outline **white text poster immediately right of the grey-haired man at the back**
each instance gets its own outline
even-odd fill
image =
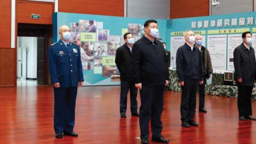
[[[208,35],[207,49],[211,55],[213,70],[226,70],[227,35]]]

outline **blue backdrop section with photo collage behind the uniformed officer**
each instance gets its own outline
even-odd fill
[[[84,85],[119,85],[115,50],[124,43],[122,35],[127,31],[138,40],[143,35],[146,20],[58,12],[53,14],[53,42],[60,39],[59,27],[69,26],[70,41],[81,46]],[[157,19],[157,22],[159,37],[165,42],[166,20]]]

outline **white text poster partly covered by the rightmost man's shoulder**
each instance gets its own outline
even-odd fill
[[[234,57],[233,53],[235,48],[242,43],[241,34],[228,35],[228,70],[234,69]]]

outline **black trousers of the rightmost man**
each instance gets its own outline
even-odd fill
[[[238,85],[237,106],[239,117],[252,115],[252,89],[253,86]]]

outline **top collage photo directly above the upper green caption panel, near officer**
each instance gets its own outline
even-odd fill
[[[96,33],[96,23],[94,20],[79,20],[78,31]]]

